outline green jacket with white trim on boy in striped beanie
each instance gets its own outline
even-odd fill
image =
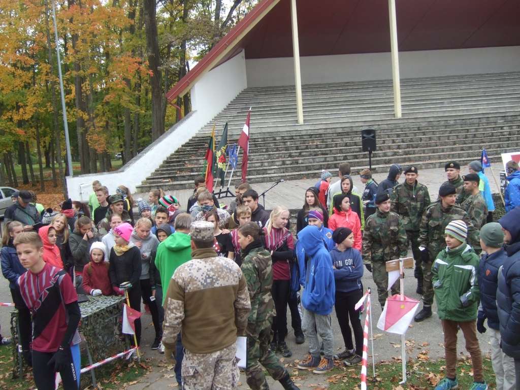
[[[478,256],[465,242],[443,249],[432,266],[432,285],[441,320],[473,321],[479,301]]]

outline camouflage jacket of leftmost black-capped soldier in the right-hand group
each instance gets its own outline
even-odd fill
[[[387,262],[405,257],[408,238],[405,225],[396,213],[376,210],[367,218],[363,233],[363,263]]]

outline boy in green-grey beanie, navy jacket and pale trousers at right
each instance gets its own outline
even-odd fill
[[[508,254],[502,248],[504,233],[499,223],[491,222],[480,229],[482,257],[478,265],[478,287],[480,306],[478,309],[477,330],[486,332],[484,321],[487,319],[491,341],[491,365],[495,371],[497,390],[515,388],[515,362],[500,348],[500,321],[497,308],[497,288],[499,269]]]

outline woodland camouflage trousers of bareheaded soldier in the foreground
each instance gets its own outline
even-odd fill
[[[252,390],[268,390],[269,385],[265,379],[265,367],[272,379],[278,381],[285,374],[285,368],[276,357],[274,351],[269,347],[271,338],[271,327],[262,329],[256,336],[248,334],[247,363],[245,366],[245,376]]]

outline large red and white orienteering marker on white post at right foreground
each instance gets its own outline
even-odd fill
[[[405,334],[418,307],[419,301],[407,296],[404,301],[401,301],[399,294],[386,298],[378,328],[389,333]]]

